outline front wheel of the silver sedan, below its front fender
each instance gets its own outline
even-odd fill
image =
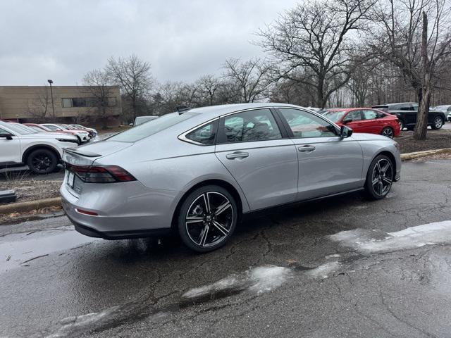
[[[370,199],[383,199],[390,192],[395,171],[392,160],[385,155],[374,158],[366,173],[365,190]]]

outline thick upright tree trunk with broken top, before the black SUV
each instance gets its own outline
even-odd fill
[[[431,61],[428,58],[428,17],[423,12],[423,31],[421,32],[421,60],[423,71],[421,74],[421,89],[418,92],[419,106],[416,113],[414,139],[426,139],[428,132],[429,101],[431,101]]]

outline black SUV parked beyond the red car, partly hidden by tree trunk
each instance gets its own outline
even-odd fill
[[[414,130],[416,125],[416,113],[418,111],[418,104],[415,102],[404,102],[400,104],[382,104],[373,106],[380,111],[385,111],[392,115],[396,115],[401,130],[407,128],[407,130]],[[445,123],[446,116],[441,111],[429,111],[428,113],[428,125],[432,129],[440,129]]]

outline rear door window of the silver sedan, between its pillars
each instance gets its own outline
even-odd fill
[[[281,139],[282,134],[269,109],[256,109],[224,118],[227,142],[266,141]]]

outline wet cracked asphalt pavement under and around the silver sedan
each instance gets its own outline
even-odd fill
[[[94,240],[65,217],[1,225],[0,337],[451,337],[450,246],[363,255],[328,237],[451,220],[450,168],[404,163],[383,201],[283,208],[207,254],[177,239]],[[183,296],[273,265],[290,273],[267,289]]]

